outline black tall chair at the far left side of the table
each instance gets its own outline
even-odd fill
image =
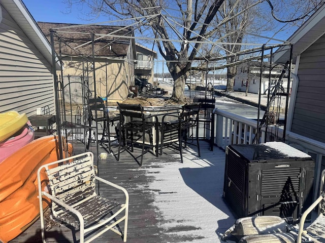
[[[108,151],[111,152],[111,134],[110,134],[110,124],[114,124],[119,120],[119,116],[113,115],[110,116],[107,107],[104,105],[102,98],[90,98],[89,99],[89,134],[86,148],[89,149],[89,146],[92,141],[95,141],[95,138],[92,138],[92,130],[95,131],[95,136],[98,136],[98,131],[102,131],[102,138],[99,141],[100,143],[106,143],[108,145]],[[97,126],[93,126],[93,121],[97,123]],[[100,129],[98,128],[100,126]],[[96,131],[97,128],[97,131]]]

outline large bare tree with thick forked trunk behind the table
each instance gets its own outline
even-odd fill
[[[159,38],[156,41],[159,53],[167,61],[168,70],[174,79],[172,98],[175,101],[184,101],[185,81],[190,72],[191,61],[211,36],[210,23],[223,1],[187,0],[183,3],[179,0],[66,0],[66,3],[72,7],[82,2],[91,8],[92,14],[102,12],[118,18],[132,17],[135,21],[142,20],[139,30],[145,33],[151,29],[151,36]],[[167,13],[167,5],[177,9]],[[180,42],[169,41],[175,37]]]

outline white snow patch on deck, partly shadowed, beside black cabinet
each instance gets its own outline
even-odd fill
[[[235,222],[222,198],[224,151],[215,148],[211,152],[208,143],[200,144],[201,157],[196,147],[187,148],[183,150],[183,164],[179,160],[156,161],[145,168],[155,178],[147,189],[154,192],[153,206],[163,218],[162,233],[170,234],[171,242],[175,238],[185,242],[189,235],[196,242],[220,242],[217,233]]]

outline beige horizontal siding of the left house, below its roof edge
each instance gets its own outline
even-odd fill
[[[0,23],[0,112],[27,116],[46,107],[54,114],[51,65],[32,44],[6,9]]]

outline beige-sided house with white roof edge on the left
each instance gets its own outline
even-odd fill
[[[20,0],[0,0],[0,112],[55,113],[51,46]]]

